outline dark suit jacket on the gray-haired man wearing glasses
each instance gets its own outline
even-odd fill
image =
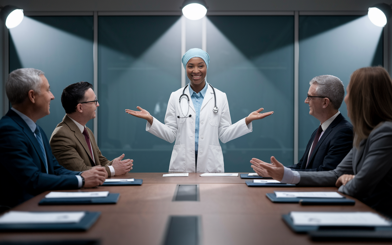
[[[316,148],[314,148],[310,156],[309,164],[306,166],[310,146],[313,143],[316,132],[317,129],[310,137],[305,154],[303,154],[299,163],[287,166],[288,168],[296,171],[334,170],[352,149],[352,125],[342,114],[339,114],[317,142]]]

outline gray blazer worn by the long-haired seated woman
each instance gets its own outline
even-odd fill
[[[354,147],[336,169],[325,172],[299,172],[298,185],[335,186],[343,174],[355,178],[339,191],[358,198],[370,207],[392,217],[392,122],[380,123],[359,148]]]

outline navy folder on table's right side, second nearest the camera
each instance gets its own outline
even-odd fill
[[[354,205],[355,200],[347,198],[277,198],[275,193],[267,193],[267,198],[274,203],[300,203],[301,205]]]

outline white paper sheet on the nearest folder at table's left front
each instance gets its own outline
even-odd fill
[[[85,212],[10,211],[0,217],[0,224],[79,223]]]

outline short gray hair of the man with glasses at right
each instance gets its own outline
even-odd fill
[[[339,78],[332,75],[321,75],[310,80],[309,84],[317,85],[317,96],[327,97],[334,109],[340,108],[344,99],[344,85]]]

